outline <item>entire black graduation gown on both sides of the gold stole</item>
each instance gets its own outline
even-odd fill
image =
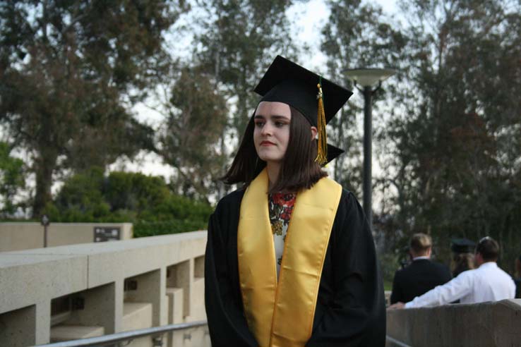
[[[257,347],[239,288],[237,226],[244,190],[217,204],[208,224],[205,305],[213,347]],[[291,322],[288,322],[291,324]],[[342,191],[325,255],[313,332],[306,347],[385,346],[385,298],[371,230]]]

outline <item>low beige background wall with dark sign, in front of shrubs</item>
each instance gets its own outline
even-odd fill
[[[95,242],[96,226],[119,227],[120,240],[132,238],[131,223],[52,223],[47,226],[47,247]],[[43,246],[44,227],[40,223],[0,223],[0,252]]]

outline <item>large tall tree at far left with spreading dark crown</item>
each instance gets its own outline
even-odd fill
[[[32,213],[62,167],[104,166],[152,147],[129,107],[155,84],[163,32],[184,1],[0,3],[0,122],[32,155]]]

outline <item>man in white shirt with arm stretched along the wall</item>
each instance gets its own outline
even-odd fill
[[[422,296],[417,296],[408,303],[395,303],[390,309],[421,308],[445,305],[455,300],[460,303],[483,303],[513,299],[515,284],[509,274],[496,264],[499,245],[490,237],[481,238],[476,246],[474,262],[477,269],[459,274],[455,279],[442,286],[431,289]]]

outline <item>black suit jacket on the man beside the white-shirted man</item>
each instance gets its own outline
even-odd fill
[[[408,303],[450,279],[452,275],[445,265],[427,259],[414,260],[405,269],[395,273],[390,301]]]

